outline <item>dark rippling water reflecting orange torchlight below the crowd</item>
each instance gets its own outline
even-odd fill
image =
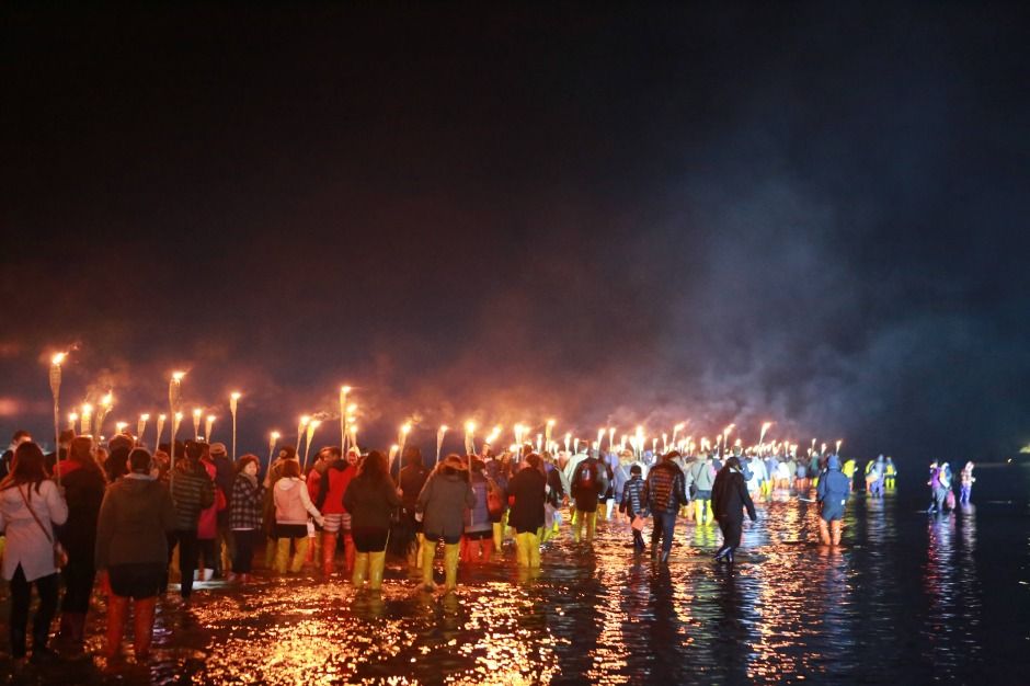
[[[394,561],[381,597],[345,578],[201,584],[159,606],[156,653],[27,666],[14,683],[1030,683],[1030,516],[1021,468],[983,469],[975,504],[937,518],[920,490],[857,494],[844,546],[815,506],[759,505],[731,571],[718,528],[680,521],[667,565],[633,558],[622,523],[593,549],[568,530],[527,579],[503,561],[425,594]],[[9,603],[3,592],[3,636]],[[102,645],[92,613],[89,650]],[[129,649],[130,643],[126,648]],[[7,644],[4,643],[4,651]],[[0,659],[9,674],[10,659]]]

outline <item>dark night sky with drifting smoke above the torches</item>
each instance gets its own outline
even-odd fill
[[[0,433],[1030,442],[1027,4],[632,4],[7,5]]]

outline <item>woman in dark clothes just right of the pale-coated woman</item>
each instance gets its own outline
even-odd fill
[[[58,539],[68,553],[68,564],[61,570],[65,597],[60,606],[61,642],[81,648],[85,629],[85,614],[90,609],[90,595],[96,579],[93,552],[96,547],[96,517],[104,500],[107,478],[96,462],[93,439],[78,436],[71,439],[68,458],[57,465],[56,471],[65,487],[68,503],[68,523],[60,527]]]

